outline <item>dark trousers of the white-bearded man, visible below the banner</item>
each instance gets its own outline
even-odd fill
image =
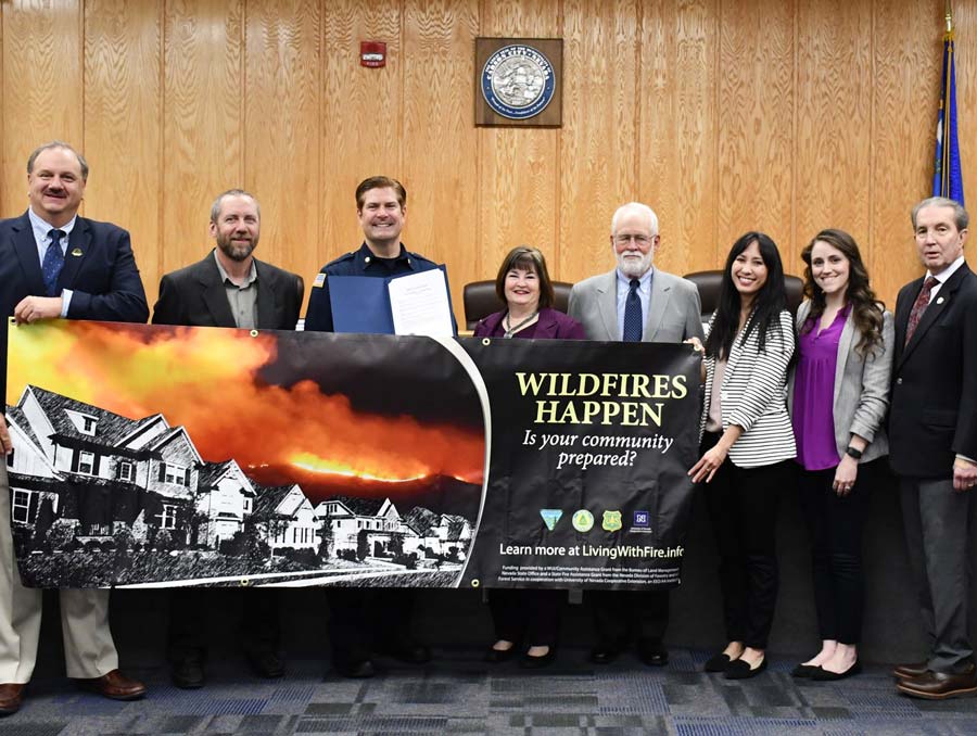
[[[669,625],[668,591],[594,591],[587,593],[594,631],[601,646],[664,638]]]

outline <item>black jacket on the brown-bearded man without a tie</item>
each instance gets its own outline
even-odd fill
[[[294,330],[302,307],[302,279],[257,258],[254,263],[258,275],[258,329]],[[160,280],[153,325],[236,327],[214,251],[200,263]]]

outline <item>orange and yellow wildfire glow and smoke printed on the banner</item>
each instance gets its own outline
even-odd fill
[[[11,327],[7,401],[16,404],[33,384],[134,419],[161,413],[187,428],[207,460],[296,470],[281,482],[313,473],[337,482],[446,475],[481,484],[480,432],[358,413],[345,395],[325,395],[313,381],[266,385],[257,372],[276,350],[271,334],[234,330]]]

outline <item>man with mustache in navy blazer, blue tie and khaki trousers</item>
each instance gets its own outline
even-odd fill
[[[78,217],[88,164],[67,143],[39,147],[27,160],[29,207],[0,220],[0,395],[7,396],[7,317],[144,322],[145,292],[129,233]],[[15,329],[15,328],[11,328]],[[7,422],[0,448],[11,452]],[[0,464],[0,714],[21,707],[37,658],[41,591],[21,584],[13,550],[7,462]],[[122,675],[109,631],[107,591],[62,591],[61,625],[68,677],[116,700],[145,686]]]

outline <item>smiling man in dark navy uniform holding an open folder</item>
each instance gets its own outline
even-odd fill
[[[305,315],[305,331],[332,332],[329,277],[388,278],[437,268],[408,251],[401,242],[407,221],[407,190],[396,179],[375,176],[356,188],[356,217],[363,244],[326,264],[313,283]],[[332,663],[344,677],[372,677],[375,651],[401,661],[422,664],[431,659],[428,647],[411,633],[415,595],[405,588],[328,587],[329,639]]]

